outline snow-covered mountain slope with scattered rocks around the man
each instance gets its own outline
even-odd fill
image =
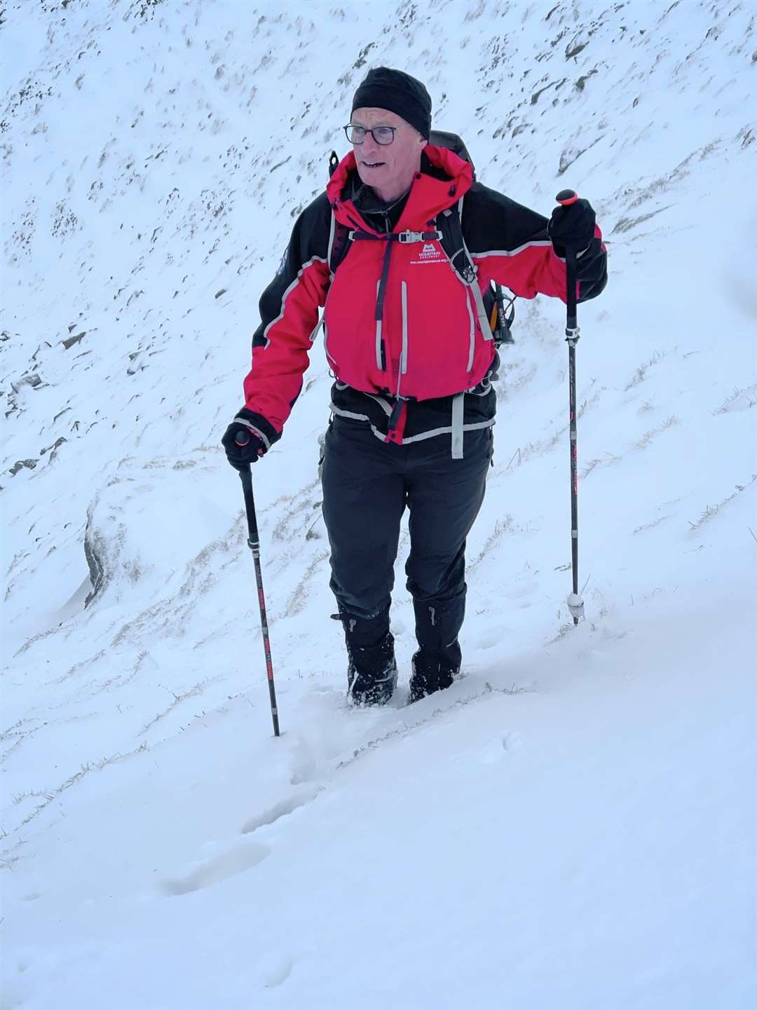
[[[757,997],[748,3],[9,3],[3,1010],[735,1008]],[[518,303],[465,677],[348,709],[316,347],[239,480],[257,299],[371,66],[487,185],[597,208],[569,622],[564,308]],[[93,582],[94,580],[94,582]]]

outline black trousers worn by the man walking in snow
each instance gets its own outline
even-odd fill
[[[465,539],[478,515],[493,451],[491,428],[466,431],[463,459],[450,437],[395,445],[367,424],[335,417],[323,448],[323,518],[330,587],[351,660],[386,665],[399,526],[409,510],[405,572],[415,610],[413,668],[460,669],[465,615]],[[353,647],[351,647],[351,645]],[[358,659],[358,664],[360,659]],[[370,670],[366,670],[370,673]]]

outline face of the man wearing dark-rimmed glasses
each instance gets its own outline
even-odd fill
[[[372,133],[366,133],[363,143],[353,144],[358,163],[358,174],[366,185],[373,187],[380,195],[395,191],[400,196],[407,190],[412,177],[420,167],[420,152],[427,140],[418,131],[400,118],[395,112],[386,109],[355,109],[350,122],[354,126],[394,126],[394,140],[388,144],[379,144]]]

